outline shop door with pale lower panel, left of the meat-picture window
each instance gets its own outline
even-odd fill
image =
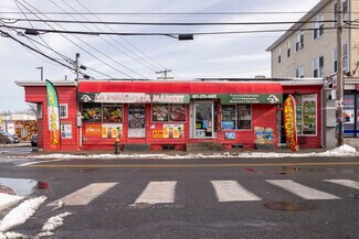
[[[145,105],[128,105],[128,138],[146,138],[146,113]]]

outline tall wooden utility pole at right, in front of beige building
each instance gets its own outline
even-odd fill
[[[342,46],[341,46],[341,34],[342,34],[342,12],[341,12],[341,0],[337,0],[337,82],[338,82],[338,104],[337,104],[337,121],[338,121],[338,137],[337,146],[344,144],[344,118],[342,118],[342,104],[344,104],[344,76],[342,76]]]

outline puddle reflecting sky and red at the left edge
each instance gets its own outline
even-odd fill
[[[36,188],[45,189],[49,185],[44,182],[25,178],[8,178],[0,177],[0,193],[6,193],[17,196],[28,196]]]

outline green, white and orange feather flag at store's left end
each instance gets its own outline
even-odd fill
[[[49,132],[50,132],[50,146],[56,148],[61,143],[59,96],[54,85],[47,79],[46,79],[46,97],[47,97],[47,123],[49,123]]]

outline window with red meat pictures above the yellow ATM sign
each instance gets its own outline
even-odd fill
[[[152,105],[152,121],[154,122],[186,121],[186,105],[154,104]]]

